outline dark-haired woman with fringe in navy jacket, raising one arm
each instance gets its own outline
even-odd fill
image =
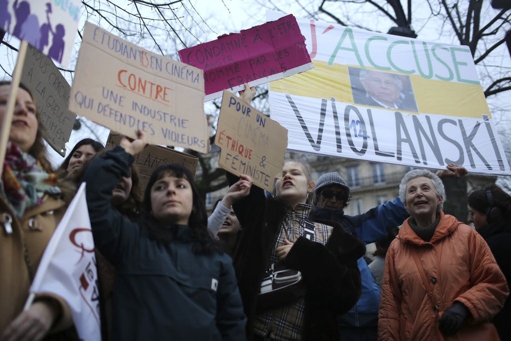
[[[145,146],[133,142],[93,160],[85,171],[96,247],[117,270],[113,340],[244,340],[246,317],[231,259],[207,232],[193,176],[159,166],[132,222],[110,203],[112,190]]]

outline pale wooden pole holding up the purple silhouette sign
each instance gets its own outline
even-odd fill
[[[0,178],[4,171],[4,160],[7,149],[7,142],[9,141],[9,135],[11,133],[12,117],[14,115],[14,105],[16,103],[16,96],[18,94],[19,81],[21,80],[21,71],[23,70],[23,64],[25,63],[25,56],[27,55],[28,43],[26,40],[21,40],[18,50],[18,58],[16,60],[16,66],[14,66],[14,72],[12,73],[11,80],[11,92],[7,100],[7,107],[5,109],[4,119],[2,120],[2,130],[0,130]]]

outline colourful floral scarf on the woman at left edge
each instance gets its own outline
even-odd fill
[[[43,171],[40,163],[29,153],[9,142],[7,145],[0,195],[18,217],[43,203],[48,195],[60,197],[56,174]]]

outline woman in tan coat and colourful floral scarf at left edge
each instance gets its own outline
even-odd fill
[[[0,121],[10,82],[0,82]],[[43,127],[29,89],[20,84],[0,183],[0,339],[42,339],[71,327],[71,312],[57,295],[38,294],[27,310],[29,287],[74,186],[52,172]]]

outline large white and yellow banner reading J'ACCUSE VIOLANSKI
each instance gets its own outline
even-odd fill
[[[298,25],[315,67],[270,84],[271,117],[288,128],[288,149],[510,173],[468,47]]]

